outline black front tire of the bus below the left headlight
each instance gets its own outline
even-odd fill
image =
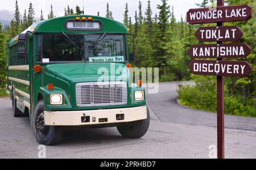
[[[63,128],[60,126],[44,125],[44,101],[40,100],[33,114],[33,129],[36,140],[46,146],[56,145],[61,141]]]

